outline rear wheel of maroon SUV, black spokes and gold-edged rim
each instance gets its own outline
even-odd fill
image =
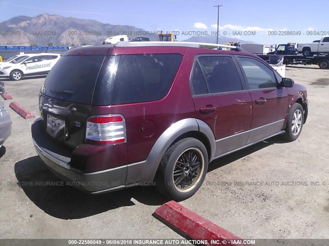
[[[180,201],[190,198],[201,187],[208,171],[204,144],[192,137],[171,146],[163,155],[155,177],[157,190]]]

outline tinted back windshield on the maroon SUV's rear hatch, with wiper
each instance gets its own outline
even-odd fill
[[[62,100],[92,104],[97,76],[104,57],[104,55],[61,57],[50,70],[41,92]],[[66,92],[54,93],[55,91]]]

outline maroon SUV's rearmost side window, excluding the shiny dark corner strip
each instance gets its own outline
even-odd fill
[[[178,71],[180,54],[121,55],[112,104],[159,100],[167,95]]]

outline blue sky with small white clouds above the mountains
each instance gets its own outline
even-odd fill
[[[329,35],[327,0],[0,0],[0,22],[48,13],[174,32],[178,40],[184,40],[193,34],[215,35],[215,5],[223,5],[219,25],[223,36],[272,45],[309,43]]]

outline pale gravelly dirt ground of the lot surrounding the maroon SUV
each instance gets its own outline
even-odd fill
[[[287,67],[307,87],[309,115],[295,142],[280,137],[210,163],[200,190],[181,204],[241,238],[329,238],[329,71]],[[152,214],[168,199],[152,187],[87,195],[65,186],[36,155],[34,119],[44,77],[5,81],[12,135],[0,150],[0,238],[181,238]],[[1,98],[2,99],[2,98]],[[19,182],[21,185],[17,185]]]

